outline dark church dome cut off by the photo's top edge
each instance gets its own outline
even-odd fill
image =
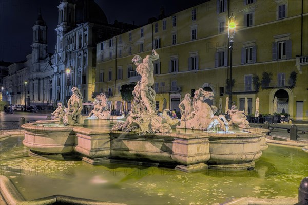
[[[100,6],[94,0],[75,0],[76,23],[91,22],[108,24],[107,17]]]

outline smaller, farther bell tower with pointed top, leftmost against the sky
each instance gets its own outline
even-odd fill
[[[32,64],[46,59],[47,54],[47,25],[42,18],[41,10],[38,13],[33,29]]]

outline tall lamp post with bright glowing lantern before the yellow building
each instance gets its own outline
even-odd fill
[[[229,17],[228,21],[228,38],[230,40],[230,76],[228,79],[228,89],[229,89],[229,107],[232,106],[232,87],[233,87],[233,79],[232,79],[232,50],[233,50],[233,38],[235,35],[235,17],[233,16],[233,13]]]

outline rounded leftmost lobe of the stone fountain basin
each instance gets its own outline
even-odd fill
[[[74,145],[73,126],[40,121],[22,125],[25,129],[23,144],[32,152],[71,153]]]

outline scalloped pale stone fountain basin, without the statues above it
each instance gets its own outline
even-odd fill
[[[266,129],[202,132],[176,129],[172,133],[139,136],[132,132],[110,131],[35,122],[22,126],[24,145],[30,155],[65,159],[79,157],[92,165],[128,163],[173,166],[193,172],[213,169],[253,169],[267,148]],[[52,157],[61,155],[61,157]]]

